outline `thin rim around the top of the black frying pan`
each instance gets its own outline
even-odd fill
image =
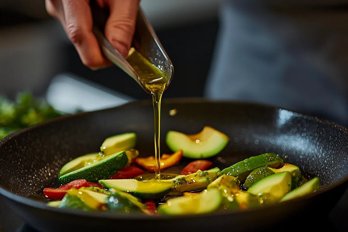
[[[191,103],[215,103],[215,104],[231,104],[231,105],[251,105],[251,106],[258,106],[258,107],[266,107],[270,108],[272,110],[285,110],[293,113],[296,115],[296,117],[300,118],[310,118],[311,120],[317,121],[318,123],[323,123],[327,125],[331,125],[334,127],[339,128],[340,130],[344,131],[345,133],[348,134],[348,129],[346,127],[343,127],[335,122],[326,120],[326,119],[321,119],[316,116],[292,111],[292,110],[287,110],[282,107],[278,107],[275,105],[270,105],[270,104],[263,104],[263,103],[255,103],[255,102],[247,102],[247,101],[231,101],[231,100],[211,100],[211,99],[206,99],[206,98],[167,98],[163,99],[163,104],[191,104]],[[145,106],[145,105],[152,105],[152,102],[150,100],[141,100],[141,101],[134,101],[130,102],[121,106],[117,107],[112,107],[108,109],[102,109],[102,110],[96,110],[96,111],[89,111],[89,112],[81,112],[77,114],[68,114],[68,115],[63,115],[58,118],[50,119],[45,122],[39,123],[37,125],[27,127],[25,129],[16,131],[5,138],[0,140],[0,147],[5,144],[7,141],[9,141],[12,137],[18,136],[20,134],[23,134],[27,131],[30,131],[35,128],[39,127],[44,127],[50,123],[54,123],[57,121],[61,120],[67,120],[69,118],[76,118],[85,114],[92,114],[96,112],[102,112],[102,111],[112,111],[114,109],[122,109],[125,107],[134,107],[134,106]],[[108,214],[106,212],[85,212],[81,210],[74,210],[74,209],[60,209],[60,208],[54,208],[47,206],[46,203],[36,201],[21,195],[17,195],[9,190],[4,189],[0,185],[0,194],[3,195],[5,198],[15,201],[17,203],[21,203],[23,205],[29,206],[29,207],[34,207],[37,209],[41,210],[46,210],[46,211],[53,211],[54,213],[59,213],[59,214],[65,214],[65,215],[71,215],[71,216],[77,216],[77,217],[93,217],[93,218],[100,218],[100,219],[112,219],[112,220],[163,220],[163,219],[173,219],[173,220],[179,220],[183,218],[201,218],[201,217],[217,217],[217,216],[224,216],[224,215],[236,215],[236,214],[249,214],[253,212],[258,212],[258,211],[263,211],[263,210],[270,210],[272,208],[278,208],[278,207],[283,207],[284,205],[290,204],[290,203],[296,203],[299,201],[304,201],[309,198],[313,198],[319,194],[322,194],[324,192],[327,192],[329,190],[335,189],[338,186],[344,184],[345,182],[348,181],[348,175],[342,177],[339,181],[336,181],[335,183],[324,187],[323,189],[320,189],[314,193],[308,194],[304,197],[296,198],[293,200],[285,201],[285,202],[280,202],[274,205],[266,205],[263,207],[259,208],[251,208],[251,209],[246,209],[246,210],[228,210],[228,211],[222,211],[222,212],[212,212],[212,213],[207,213],[207,214],[195,214],[195,215],[137,215],[137,214],[124,214],[124,215],[118,215],[118,214]]]

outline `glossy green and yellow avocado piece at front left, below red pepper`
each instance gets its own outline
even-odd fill
[[[106,204],[108,195],[88,190],[70,189],[64,196],[58,208],[81,209],[84,211],[99,211]]]

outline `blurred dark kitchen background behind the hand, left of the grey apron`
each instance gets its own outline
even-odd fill
[[[142,0],[175,68],[165,98],[201,97],[219,28],[218,0]],[[197,7],[199,5],[199,7]],[[118,67],[85,67],[44,0],[0,0],[0,94],[31,90],[56,109],[97,110],[150,96]]]

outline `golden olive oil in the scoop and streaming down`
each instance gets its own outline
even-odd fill
[[[134,48],[129,50],[127,62],[139,75],[144,87],[152,94],[153,114],[155,118],[155,179],[159,180],[161,178],[159,144],[161,99],[169,77],[152,65]]]

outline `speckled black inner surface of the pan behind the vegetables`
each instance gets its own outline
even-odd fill
[[[211,126],[230,138],[211,158],[217,167],[273,152],[288,157],[306,177],[320,177],[323,187],[348,174],[348,133],[334,123],[247,103],[166,100],[162,109],[161,153],[171,153],[165,144],[168,130],[195,134]],[[141,157],[154,155],[151,102],[60,118],[16,133],[0,142],[0,186],[23,196],[41,194],[44,187],[56,186],[60,168],[70,159],[98,152],[106,137],[126,132],[137,134]],[[190,161],[184,158],[165,172],[179,173]]]

